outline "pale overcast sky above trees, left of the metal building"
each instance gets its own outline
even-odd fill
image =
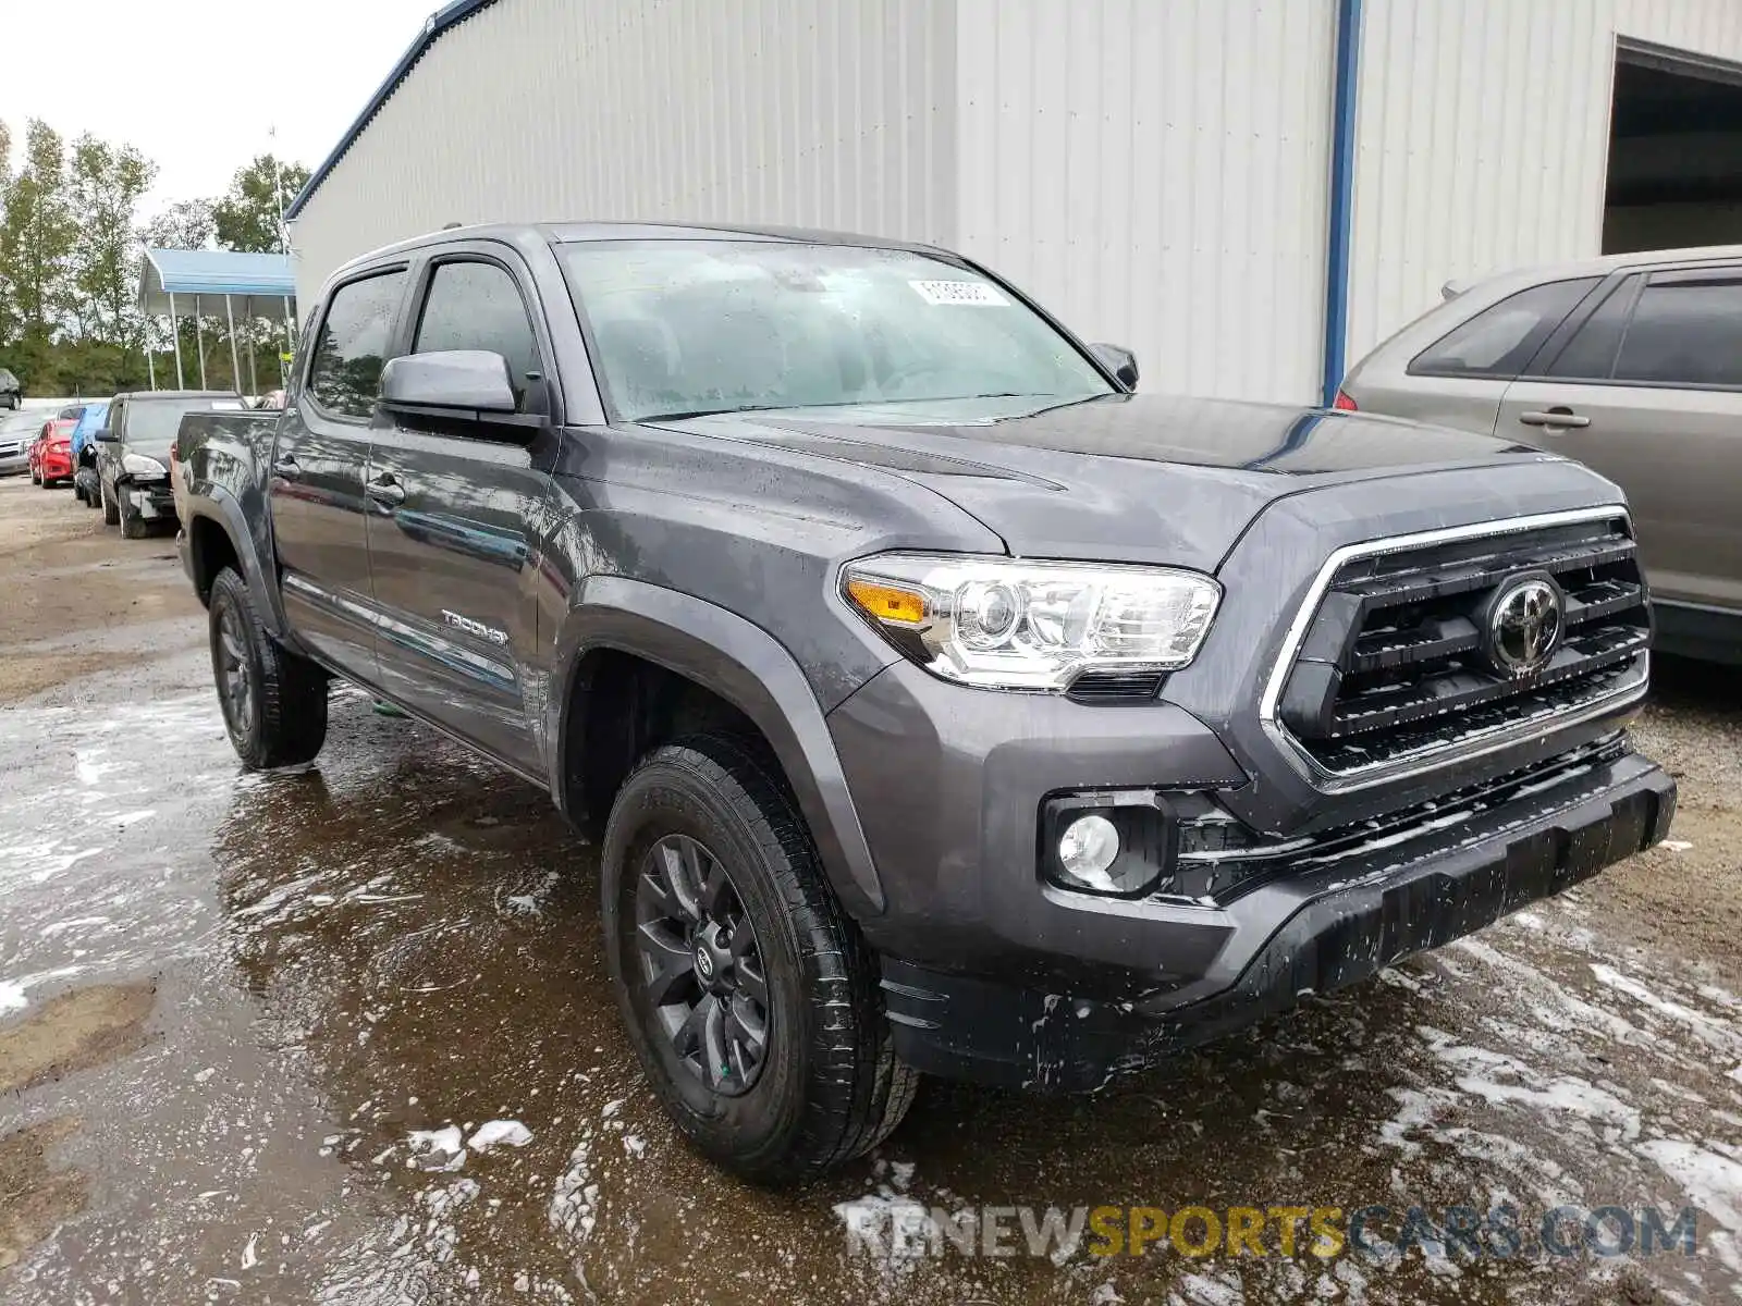
[[[0,120],[157,160],[141,204],[219,195],[256,153],[315,167],[441,0],[0,0]]]

